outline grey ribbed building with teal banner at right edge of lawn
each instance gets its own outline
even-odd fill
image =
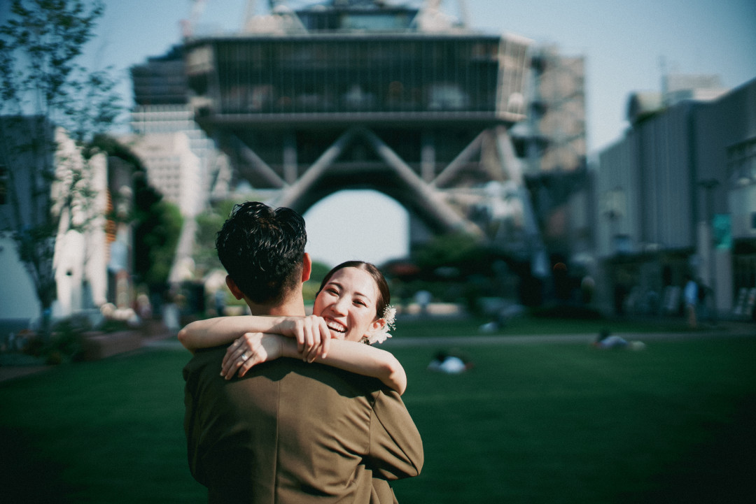
[[[724,94],[683,81],[633,94],[631,128],[600,152],[596,251],[630,309],[675,312],[691,274],[733,313],[756,287],[756,80]]]

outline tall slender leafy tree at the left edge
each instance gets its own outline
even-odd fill
[[[13,0],[0,26],[0,168],[12,235],[36,288],[43,332],[56,297],[58,233],[87,226],[94,134],[119,112],[109,71],[79,65],[102,2]],[[6,14],[5,12],[2,14]],[[75,143],[65,146],[64,143]]]

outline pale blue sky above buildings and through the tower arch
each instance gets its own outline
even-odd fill
[[[192,2],[105,3],[86,63],[113,65],[130,105],[129,66],[180,41],[180,21],[190,17]],[[238,29],[247,3],[205,0],[199,26]],[[260,11],[268,1],[256,3]],[[443,5],[457,12],[457,2]],[[586,58],[589,153],[621,137],[631,92],[658,91],[662,59],[669,72],[717,74],[728,88],[756,78],[754,0],[466,0],[464,5],[475,29],[511,32]],[[355,258],[381,263],[407,250],[406,212],[375,192],[337,193],[308,211],[305,220],[311,254],[327,263]]]

